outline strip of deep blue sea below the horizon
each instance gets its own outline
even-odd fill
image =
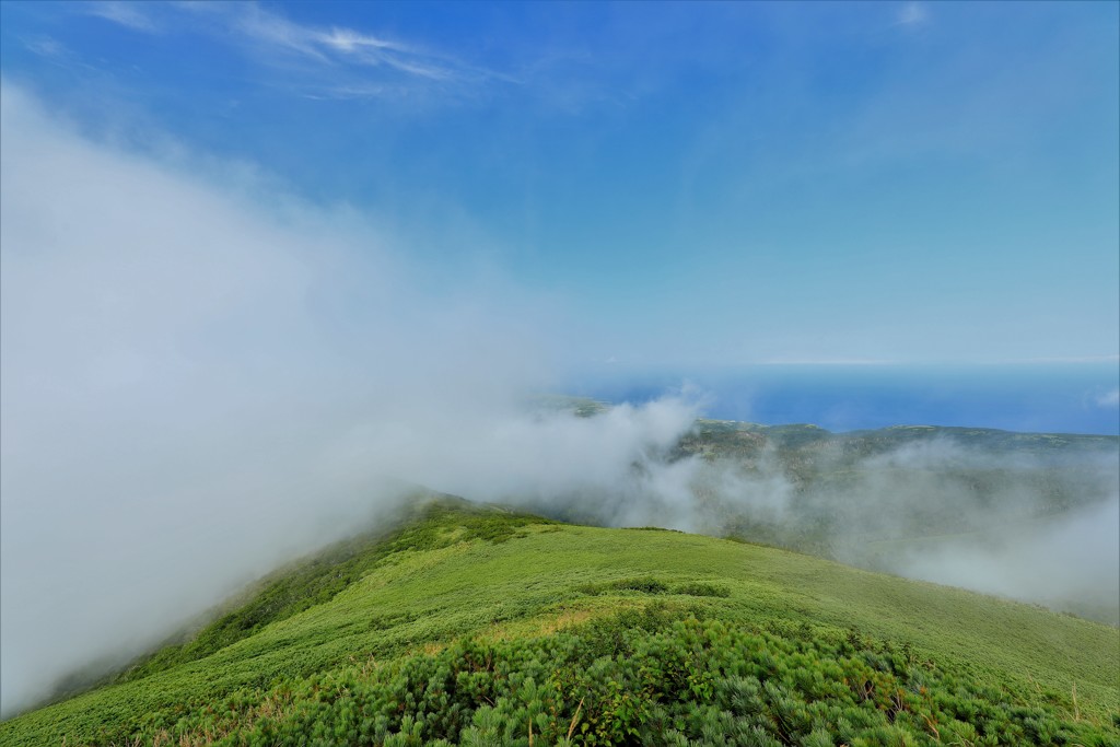
[[[899,424],[1120,435],[1120,364],[972,366],[754,365],[697,370],[606,367],[573,394],[645,402],[684,387],[706,417],[832,431]]]

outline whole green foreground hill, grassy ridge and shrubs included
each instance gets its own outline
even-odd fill
[[[441,502],[0,744],[1114,745],[1118,678],[1120,632],[1079,618]]]

